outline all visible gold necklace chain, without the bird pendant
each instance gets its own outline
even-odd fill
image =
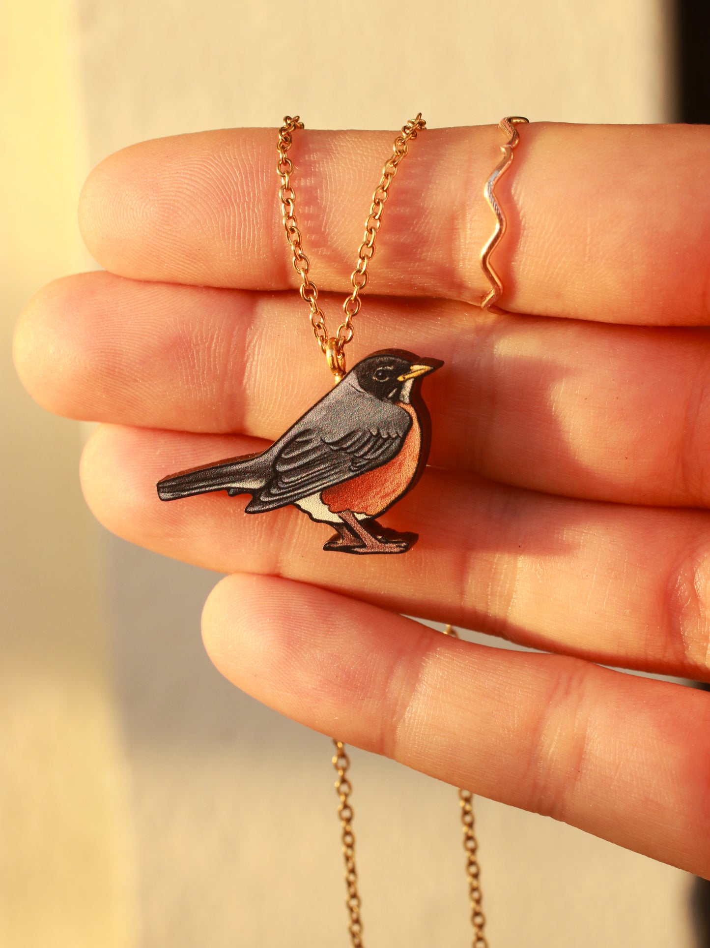
[[[375,254],[375,239],[382,225],[382,210],[384,210],[384,203],[387,200],[390,185],[397,174],[399,162],[407,155],[409,141],[417,137],[417,132],[422,131],[426,127],[426,123],[421,118],[421,113],[419,113],[417,118],[408,121],[402,127],[398,137],[395,138],[392,155],[387,158],[384,164],[382,178],[372,197],[372,205],[365,224],[363,243],[358,250],[358,263],[350,275],[352,292],[343,303],[345,319],[333,337],[328,333],[325,315],[318,305],[318,288],[309,276],[311,263],[304,252],[301,232],[298,229],[295,217],[295,192],[291,183],[293,162],[288,153],[293,144],[293,132],[303,127],[303,122],[298,116],[293,118],[286,116],[283,125],[278,130],[277,172],[281,179],[278,195],[283,210],[283,226],[286,231],[286,238],[293,252],[293,269],[301,279],[299,292],[301,298],[309,304],[313,335],[321,351],[328,359],[328,368],[337,384],[346,374],[345,347],[354,334],[352,319],[358,314],[362,305],[360,293],[367,283],[367,266]],[[445,634],[457,637],[456,631],[451,625],[446,627]],[[335,781],[335,791],[339,798],[338,814],[341,821],[341,841],[345,860],[347,931],[350,935],[352,948],[364,948],[363,921],[360,917],[361,900],[358,890],[358,872],[355,864],[355,834],[352,828],[354,814],[350,803],[352,785],[348,776],[350,758],[347,756],[346,746],[342,740],[333,738],[333,743],[335,744],[335,754],[332,763],[338,775]],[[473,794],[470,790],[459,789],[458,798],[463,824],[464,850],[466,852],[470,923],[473,928],[471,948],[488,948],[488,941],[484,934],[486,918],[481,905],[480,868],[477,859],[478,842],[473,819]]]

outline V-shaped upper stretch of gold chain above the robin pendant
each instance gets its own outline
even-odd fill
[[[295,192],[291,184],[291,175],[293,174],[293,161],[289,157],[289,149],[293,145],[293,132],[296,129],[302,129],[303,122],[299,116],[284,116],[283,125],[278,130],[278,163],[276,170],[281,180],[281,187],[278,190],[278,196],[281,201],[282,221],[286,231],[286,239],[289,242],[293,254],[293,269],[301,280],[299,293],[301,298],[309,304],[311,309],[311,327],[313,336],[316,338],[321,351],[328,356],[328,366],[333,374],[342,377],[346,372],[345,347],[352,340],[354,330],[352,326],[353,317],[360,312],[362,300],[360,294],[367,285],[368,273],[367,267],[375,255],[375,241],[378,232],[382,226],[382,211],[389,194],[389,189],[397,174],[399,162],[409,151],[409,142],[417,137],[417,133],[426,128],[426,122],[421,118],[419,112],[417,118],[411,119],[406,125],[403,125],[399,135],[395,138],[392,146],[392,155],[384,163],[382,169],[382,178],[372,195],[372,205],[364,226],[363,243],[358,250],[358,262],[355,269],[350,274],[350,283],[352,292],[346,297],[343,303],[345,319],[338,326],[338,331],[334,337],[330,337],[326,317],[318,304],[318,288],[312,282],[309,273],[311,271],[311,262],[306,256],[301,239],[301,231],[298,229],[298,222],[295,216]],[[328,342],[329,355],[328,355]]]

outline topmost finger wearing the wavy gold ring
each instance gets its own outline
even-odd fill
[[[708,320],[710,131],[541,123],[521,137],[498,191],[508,216],[494,259],[502,305],[625,323]],[[87,246],[107,269],[141,280],[294,286],[275,140],[275,129],[231,129],[112,155],[82,194]],[[417,138],[384,211],[368,293],[480,301],[488,283],[478,258],[494,223],[483,187],[503,140],[492,126]],[[320,289],[346,291],[391,144],[387,132],[294,137],[296,213]]]

